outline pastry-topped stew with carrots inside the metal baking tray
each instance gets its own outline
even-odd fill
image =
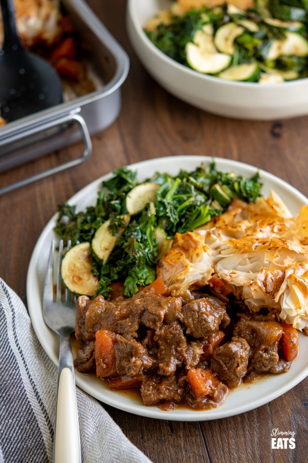
[[[16,0],[18,34],[25,47],[47,59],[61,77],[64,101],[96,90],[96,78],[79,38],[57,0]],[[0,21],[0,46],[3,24]],[[2,116],[5,115],[2,114]]]

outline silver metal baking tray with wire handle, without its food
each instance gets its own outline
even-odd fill
[[[84,162],[92,150],[90,135],[112,124],[121,109],[120,87],[129,69],[126,52],[83,0],[62,0],[62,5],[96,76],[97,90],[1,127],[0,172],[79,140],[84,141],[84,151],[77,159],[11,185],[0,186],[0,194]]]

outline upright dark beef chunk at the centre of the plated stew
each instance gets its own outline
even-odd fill
[[[172,375],[185,358],[186,338],[178,322],[162,325],[155,332],[158,344],[159,375]]]

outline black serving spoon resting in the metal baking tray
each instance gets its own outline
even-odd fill
[[[62,102],[55,69],[25,50],[17,35],[13,0],[0,0],[4,44],[0,50],[1,115],[8,122]]]

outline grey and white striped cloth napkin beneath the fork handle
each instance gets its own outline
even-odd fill
[[[57,376],[24,304],[0,279],[0,463],[52,462]],[[77,403],[83,463],[151,463],[79,388]]]

